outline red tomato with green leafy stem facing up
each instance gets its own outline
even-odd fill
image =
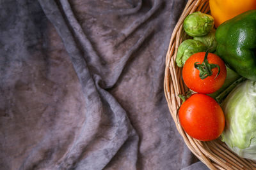
[[[227,69],[225,63],[220,57],[218,57],[218,55],[208,53],[206,57],[206,64],[204,64],[205,52],[199,52],[191,55],[184,64],[182,77],[184,83],[189,89],[202,94],[211,94],[216,92],[223,85],[227,76]],[[195,65],[200,67],[198,69],[201,69],[202,71],[196,69]],[[218,66],[220,67],[219,74]],[[209,71],[211,73],[209,73]],[[209,76],[205,78],[206,74]]]

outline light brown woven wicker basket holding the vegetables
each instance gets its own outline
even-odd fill
[[[173,30],[168,52],[166,54],[164,75],[164,94],[168,102],[170,113],[176,124],[177,130],[183,137],[189,150],[191,150],[191,152],[193,152],[196,157],[204,162],[210,169],[256,169],[255,161],[239,157],[236,153],[232,152],[225,143],[221,142],[220,139],[209,142],[198,141],[188,136],[179,124],[177,110],[181,104],[181,100],[179,99],[178,94],[184,94],[184,92],[188,90],[188,87],[186,87],[182,81],[182,69],[175,65],[175,57],[180,43],[182,43],[184,39],[188,39],[188,36],[182,28],[184,18],[194,11],[209,13],[209,1],[189,0]]]

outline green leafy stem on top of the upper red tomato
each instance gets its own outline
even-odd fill
[[[208,60],[207,60],[208,53],[209,53],[208,51],[205,53],[204,61],[202,62],[202,64],[198,64],[200,62],[195,62],[195,64],[194,64],[195,68],[199,70],[199,76],[202,80],[207,78],[207,76],[211,76],[212,69],[215,67],[218,68],[218,73],[216,74],[214,79],[217,78],[217,76],[220,74],[220,66],[218,64],[210,64],[208,62]]]

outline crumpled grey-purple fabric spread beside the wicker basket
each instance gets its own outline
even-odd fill
[[[181,169],[163,93],[186,1],[0,1],[1,169]]]

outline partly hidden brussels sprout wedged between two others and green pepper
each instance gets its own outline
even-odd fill
[[[216,30],[212,29],[205,36],[195,36],[194,39],[204,43],[204,45],[207,46],[207,49],[209,49],[209,52],[214,52],[217,48],[217,41],[216,41],[216,38],[215,38],[215,32],[216,32]]]

